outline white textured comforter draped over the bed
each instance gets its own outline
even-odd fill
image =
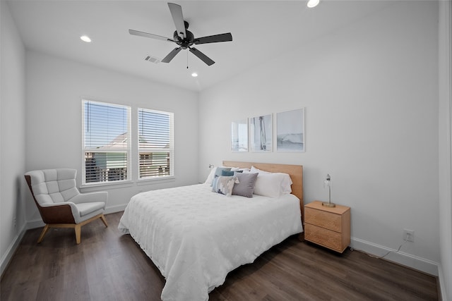
[[[233,269],[303,231],[299,199],[225,197],[207,184],[142,192],[119,222],[166,278],[162,300],[208,300]]]

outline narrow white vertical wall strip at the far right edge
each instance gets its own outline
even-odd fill
[[[439,3],[439,235],[443,300],[452,300],[452,5]]]

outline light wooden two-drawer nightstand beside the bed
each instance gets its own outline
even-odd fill
[[[304,239],[336,252],[350,245],[350,207],[323,207],[314,201],[304,206]]]

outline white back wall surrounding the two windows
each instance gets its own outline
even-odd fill
[[[109,192],[107,211],[124,209],[132,195],[197,183],[198,94],[161,85],[131,75],[86,66],[35,51],[26,53],[26,139],[27,170],[76,168],[81,184],[81,99],[126,104],[174,113],[175,180],[150,185],[121,185],[96,188]],[[136,128],[132,135],[136,135]],[[135,133],[135,134],[134,134]],[[132,163],[137,158],[133,156]],[[132,170],[136,178],[136,169]],[[195,172],[196,173],[196,172]],[[93,188],[88,189],[93,191]],[[27,193],[27,220],[40,215]]]

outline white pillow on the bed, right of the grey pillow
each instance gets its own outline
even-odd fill
[[[259,173],[254,187],[254,194],[256,195],[279,197],[280,195],[286,195],[292,192],[290,185],[293,182],[287,173],[270,173],[268,171],[261,171],[254,166],[251,166],[251,173]]]

